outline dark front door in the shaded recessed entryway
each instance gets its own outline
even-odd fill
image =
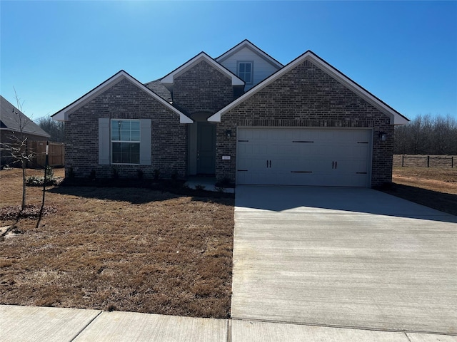
[[[216,125],[197,123],[197,174],[216,173]]]

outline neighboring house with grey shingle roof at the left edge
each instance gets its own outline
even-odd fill
[[[30,120],[6,98],[0,95],[0,143],[1,165],[10,164],[14,160],[9,154],[8,145],[18,142],[46,141],[51,135],[46,133]]]

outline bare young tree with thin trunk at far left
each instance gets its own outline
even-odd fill
[[[21,202],[21,210],[24,210],[26,207],[26,166],[27,162],[34,157],[34,152],[29,151],[27,148],[27,136],[25,133],[25,128],[29,124],[29,118],[26,118],[24,113],[22,112],[22,105],[24,102],[21,103],[19,100],[16,89],[14,89],[14,95],[16,96],[16,103],[17,108],[19,109],[19,113],[14,111],[14,118],[17,123],[18,130],[6,136],[5,142],[0,142],[1,150],[6,152],[13,164],[19,164],[22,168],[22,202]]]

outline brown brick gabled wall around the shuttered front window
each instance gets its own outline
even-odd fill
[[[99,165],[99,118],[150,118],[152,165]],[[96,177],[112,177],[113,167],[119,177],[137,177],[139,169],[144,177],[154,177],[154,170],[166,178],[186,175],[186,125],[179,123],[178,114],[126,79],[69,115],[65,142],[67,174],[71,167],[75,177],[88,177],[92,170]]]

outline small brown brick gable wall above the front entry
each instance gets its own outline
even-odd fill
[[[174,79],[173,102],[189,114],[216,113],[231,101],[231,79],[206,61],[201,61]]]

